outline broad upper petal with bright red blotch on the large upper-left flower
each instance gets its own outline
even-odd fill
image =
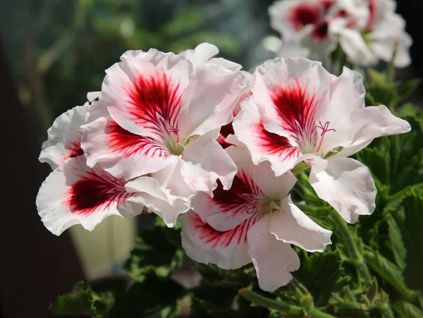
[[[192,63],[181,55],[137,51],[106,71],[102,99],[125,130],[166,138],[180,128],[180,101],[190,75]]]

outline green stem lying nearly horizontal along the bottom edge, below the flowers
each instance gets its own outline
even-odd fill
[[[304,311],[300,306],[290,305],[288,304],[288,302],[283,302],[282,300],[273,300],[265,298],[262,295],[259,295],[253,291],[247,291],[247,289],[245,288],[241,288],[238,293],[243,296],[243,298],[245,298],[246,300],[250,300],[250,302],[254,302],[256,305],[277,310],[278,312],[283,312],[284,314],[289,314],[293,316],[302,317],[304,315]],[[321,312],[316,308],[313,308],[311,312],[309,312],[309,317],[336,318],[331,316],[330,314],[325,314],[324,312]]]

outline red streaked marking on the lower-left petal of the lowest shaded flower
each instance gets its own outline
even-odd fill
[[[250,219],[246,219],[243,223],[235,226],[229,231],[216,231],[209,224],[204,223],[200,216],[195,214],[192,218],[192,226],[194,231],[199,234],[200,240],[206,245],[216,247],[228,247],[235,240],[235,246],[247,243],[248,230],[261,219],[263,214],[255,214]]]

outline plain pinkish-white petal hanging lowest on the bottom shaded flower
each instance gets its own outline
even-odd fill
[[[248,231],[248,254],[263,291],[275,291],[293,279],[291,271],[300,268],[300,258],[290,244],[269,232],[269,217],[263,217]]]

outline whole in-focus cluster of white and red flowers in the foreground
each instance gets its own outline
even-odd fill
[[[277,58],[250,74],[218,52],[207,43],[127,51],[101,92],[54,121],[39,157],[54,170],[37,195],[49,231],[92,230],[147,207],[169,227],[180,221],[192,259],[252,262],[259,286],[274,291],[300,266],[291,244],[322,252],[331,243],[291,200],[293,173],[309,169],[345,221],[373,212],[374,181],[348,157],[408,123],[364,107],[362,78],[348,68],[336,77],[319,62]]]

